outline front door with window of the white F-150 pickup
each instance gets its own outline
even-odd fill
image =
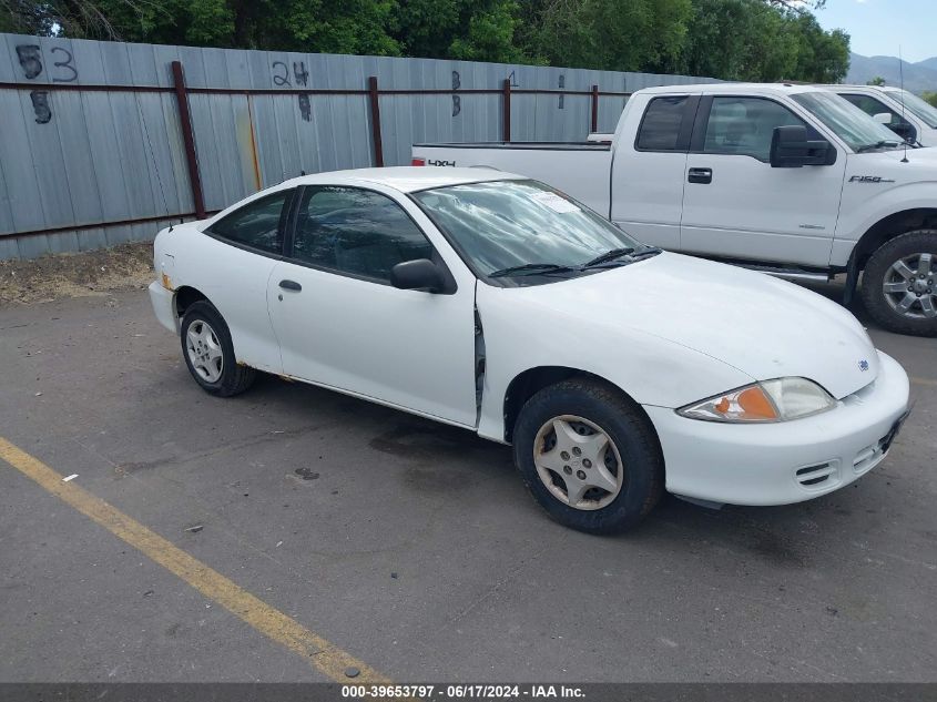
[[[784,125],[804,125],[808,139],[824,139],[770,98],[704,98],[684,174],[683,251],[805,266],[828,264],[845,154],[838,153],[833,165],[772,167],[772,135]]]

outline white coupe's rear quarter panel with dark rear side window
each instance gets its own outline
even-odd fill
[[[267,314],[267,284],[283,256],[286,218],[296,189],[261,195],[194,236],[185,257],[192,281],[224,317],[238,362],[281,372],[279,348]]]

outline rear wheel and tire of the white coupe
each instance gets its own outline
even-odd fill
[[[256,372],[237,363],[231,332],[214,305],[193,303],[182,318],[182,357],[203,390],[218,397],[243,393]]]

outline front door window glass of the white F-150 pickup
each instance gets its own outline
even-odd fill
[[[768,162],[774,128],[806,126],[801,118],[782,104],[764,98],[713,98],[703,153],[752,156]]]

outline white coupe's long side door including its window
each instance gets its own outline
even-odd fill
[[[393,191],[323,185],[294,216],[268,292],[284,373],[473,427],[476,281],[426,215]],[[447,289],[390,285],[418,258],[447,271]]]

